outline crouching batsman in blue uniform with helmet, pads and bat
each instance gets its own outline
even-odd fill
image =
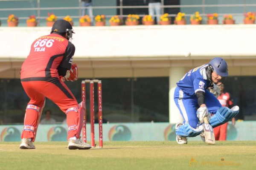
[[[184,122],[175,125],[176,141],[187,144],[188,137],[200,135],[207,144],[215,144],[212,127],[222,125],[239,112],[239,107],[222,107],[218,101],[222,84],[228,76],[227,62],[220,57],[186,73],[175,88],[174,100]]]

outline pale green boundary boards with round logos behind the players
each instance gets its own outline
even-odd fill
[[[256,121],[229,122],[227,140],[256,140]],[[20,141],[23,125],[0,125],[0,142]],[[103,141],[175,141],[175,124],[169,123],[108,123],[103,124]],[[95,140],[99,140],[95,124]],[[201,140],[200,136],[189,138]],[[67,141],[67,125],[40,125],[37,142]],[[87,142],[90,142],[90,124],[87,124]]]

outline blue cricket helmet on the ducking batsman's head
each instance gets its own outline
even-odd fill
[[[209,62],[209,65],[216,74],[222,77],[228,76],[227,62],[223,58],[215,57]]]

